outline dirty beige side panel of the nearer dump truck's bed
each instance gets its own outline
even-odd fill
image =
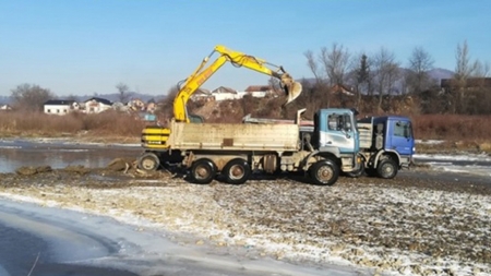
[[[167,144],[177,149],[296,151],[297,124],[172,122]]]

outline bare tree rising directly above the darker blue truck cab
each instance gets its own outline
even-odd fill
[[[391,89],[399,76],[399,63],[395,55],[385,48],[381,48],[375,55],[373,69],[375,73],[375,85],[379,92],[378,110],[382,109],[384,94],[391,95]]]

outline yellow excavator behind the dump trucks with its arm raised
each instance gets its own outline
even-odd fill
[[[213,55],[218,53],[218,58],[208,64]],[[205,83],[218,69],[226,62],[230,62],[235,67],[244,67],[260,73],[271,75],[278,79],[282,88],[286,93],[287,105],[300,96],[302,86],[288,74],[283,67],[278,67],[266,62],[263,59],[249,56],[239,51],[227,49],[221,45],[217,45],[215,49],[205,57],[194,72],[183,81],[179,87],[179,92],[173,99],[173,118],[171,121],[190,123],[195,122],[193,117],[187,111],[187,103],[190,97]],[[207,65],[208,64],[208,65]],[[273,69],[272,69],[273,68]],[[199,121],[199,120],[197,120]],[[146,149],[169,149],[167,140],[171,133],[171,129],[161,127],[146,127],[142,132],[142,146]]]

